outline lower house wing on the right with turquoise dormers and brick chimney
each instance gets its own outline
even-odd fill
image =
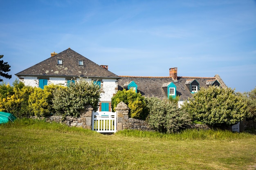
[[[148,97],[179,97],[178,105],[200,88],[207,88],[210,85],[226,87],[219,75],[214,77],[179,77],[177,76],[177,68],[169,69],[168,77],[135,77],[135,76],[119,76],[118,90],[135,89],[137,93],[141,93]]]

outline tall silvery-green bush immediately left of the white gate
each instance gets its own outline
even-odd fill
[[[77,117],[86,105],[91,105],[94,111],[98,109],[100,87],[93,81],[80,78],[75,83],[70,82],[68,88],[56,89],[53,93],[53,108],[56,114]]]

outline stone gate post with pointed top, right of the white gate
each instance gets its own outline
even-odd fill
[[[123,130],[123,123],[129,119],[129,108],[124,102],[120,102],[115,110],[117,111],[117,131]]]

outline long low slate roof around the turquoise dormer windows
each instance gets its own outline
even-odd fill
[[[137,84],[137,93],[148,97],[161,97],[167,98],[167,86],[173,82],[176,86],[177,95],[181,100],[192,97],[189,88],[185,85],[186,82],[196,80],[199,83],[200,88],[207,88],[207,80],[215,81],[216,77],[177,77],[177,81],[173,81],[171,77],[132,77],[132,76],[120,76],[118,80],[118,90],[123,90],[126,82],[134,81]],[[188,82],[187,82],[188,83]],[[166,89],[165,89],[166,88]]]

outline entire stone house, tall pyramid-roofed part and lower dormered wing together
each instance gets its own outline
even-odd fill
[[[111,111],[111,98],[118,90],[133,89],[148,97],[180,97],[179,106],[200,88],[225,87],[219,75],[214,77],[180,77],[177,68],[168,77],[117,76],[107,65],[98,65],[72,49],[51,53],[51,57],[16,74],[27,86],[43,88],[47,84],[68,86],[73,79],[88,78],[101,86],[99,111]]]

